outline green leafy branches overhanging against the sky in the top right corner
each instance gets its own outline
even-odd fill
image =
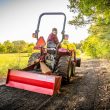
[[[88,23],[110,24],[109,0],[69,0],[68,8],[74,12],[69,23],[77,26]]]

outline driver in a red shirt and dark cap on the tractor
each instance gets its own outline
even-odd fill
[[[48,43],[48,42],[52,42],[52,43],[58,45],[59,40],[58,40],[58,37],[57,37],[57,28],[53,28],[53,29],[52,29],[52,32],[51,32],[51,34],[48,36],[48,39],[47,39],[47,43]]]

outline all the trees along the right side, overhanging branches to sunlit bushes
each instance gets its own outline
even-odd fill
[[[74,13],[71,25],[90,25],[80,49],[93,58],[110,59],[110,0],[69,0],[68,8]]]

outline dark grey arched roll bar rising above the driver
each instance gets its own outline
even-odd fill
[[[64,23],[63,23],[63,29],[62,29],[62,39],[64,37],[64,33],[65,33],[65,24],[66,24],[66,15],[63,12],[46,12],[46,13],[42,13],[39,16],[39,20],[38,20],[38,24],[37,24],[37,29],[35,30],[35,35],[36,38],[38,39],[38,33],[39,33],[39,27],[40,27],[40,22],[41,22],[41,18],[44,15],[63,15],[64,16]]]

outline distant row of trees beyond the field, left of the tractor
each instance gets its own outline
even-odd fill
[[[7,40],[0,43],[0,53],[31,53],[33,48],[33,43],[27,43],[24,40],[12,42]]]

